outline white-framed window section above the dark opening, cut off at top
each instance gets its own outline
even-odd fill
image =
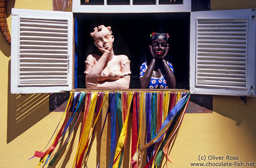
[[[73,0],[74,13],[190,12],[191,0]]]

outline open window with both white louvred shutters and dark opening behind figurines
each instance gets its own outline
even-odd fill
[[[175,43],[171,45],[174,45],[174,57],[172,56],[171,61],[174,62],[174,68],[176,66],[177,88],[189,89],[190,87],[192,94],[256,95],[254,90],[256,78],[254,9],[150,13],[155,11],[151,4],[132,4],[135,1],[129,1],[129,5],[118,5],[120,9],[116,11],[114,10],[116,5],[107,4],[106,0],[103,0],[103,5],[80,4],[80,0],[73,1],[73,12],[81,12],[79,10],[85,6],[94,9],[94,11],[90,9],[88,13],[74,14],[75,35],[79,35],[75,38],[75,55],[78,56],[78,64],[73,64],[72,56],[72,13],[14,9],[12,11],[11,93],[67,91],[72,89],[72,78],[75,74],[77,74],[78,88],[84,88],[84,60],[96,49],[90,32],[94,26],[105,24],[112,26],[116,36],[115,53],[127,54],[131,60],[133,83],[131,82],[130,88],[138,87],[136,71],[139,64],[145,60],[148,48],[147,41],[141,44],[135,42],[136,34],[142,34],[141,39],[148,39],[148,34],[163,27],[162,32],[169,31],[169,34],[173,34],[176,39],[180,38],[181,42],[178,43],[179,47],[175,47]],[[78,2],[79,10],[74,9]],[[115,0],[112,2],[116,3]],[[183,0],[182,4],[177,5],[185,7],[187,2]],[[157,0],[156,4],[153,5],[161,6],[160,0]],[[152,10],[144,10],[146,6]],[[101,7],[105,7],[105,12],[107,10],[107,13],[112,14],[96,14],[104,12]],[[131,10],[128,9],[129,7],[135,8]],[[119,11],[121,9],[123,12]],[[160,8],[156,11],[160,11]],[[122,14],[115,14],[116,12]],[[190,15],[191,25],[189,25]],[[161,21],[159,25],[154,24],[159,20]],[[168,30],[165,29],[166,27]],[[124,31],[121,31],[122,29]],[[145,49],[137,49],[138,47]]]

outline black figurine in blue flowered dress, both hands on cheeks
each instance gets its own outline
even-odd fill
[[[148,89],[175,89],[173,67],[165,60],[169,50],[169,35],[154,32],[150,36],[151,57],[140,66],[140,86]]]

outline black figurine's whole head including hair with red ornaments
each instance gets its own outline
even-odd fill
[[[169,35],[165,33],[152,33],[150,35],[150,46],[152,47],[155,58],[164,58],[168,52]]]

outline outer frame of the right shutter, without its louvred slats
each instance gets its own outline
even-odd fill
[[[190,46],[190,90],[192,94],[209,95],[231,95],[231,96],[255,96],[255,67],[256,67],[256,19],[251,9],[242,10],[224,10],[224,11],[200,11],[191,12],[191,46]],[[254,15],[255,16],[255,15]],[[197,55],[197,37],[196,24],[197,19],[247,19],[247,54],[246,54],[246,87],[244,89],[236,88],[217,88],[217,87],[199,87],[196,86],[196,55]],[[251,89],[253,86],[253,89]]]

